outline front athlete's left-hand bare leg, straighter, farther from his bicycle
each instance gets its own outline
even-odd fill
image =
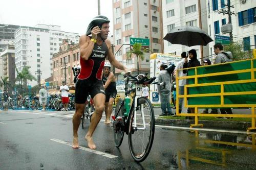
[[[81,122],[81,117],[84,111],[84,104],[75,104],[75,114],[73,115],[73,144],[72,148],[79,148],[78,144],[78,128]]]

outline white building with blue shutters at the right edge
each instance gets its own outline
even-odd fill
[[[226,9],[224,4],[228,4],[228,0],[207,0],[207,18],[208,32],[211,38],[215,40],[215,35],[229,36],[229,33],[222,33],[221,27],[228,23],[228,15],[219,14],[219,11]],[[248,48],[256,48],[256,1],[255,0],[231,0],[231,15],[233,41],[243,42],[244,51]],[[214,55],[215,42],[209,43],[209,53]],[[224,49],[225,50],[225,49]]]

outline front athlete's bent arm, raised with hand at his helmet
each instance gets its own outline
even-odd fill
[[[98,26],[94,27],[91,31],[92,38],[97,39],[97,34],[99,34],[101,30]],[[80,56],[83,60],[88,60],[90,55],[92,54],[93,47],[95,42],[91,41],[91,38],[86,35],[82,35],[79,39],[79,48],[80,48]]]

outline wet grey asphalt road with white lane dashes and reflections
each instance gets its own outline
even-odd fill
[[[118,148],[111,126],[99,123],[94,142],[99,153],[72,149],[73,112],[0,111],[0,169],[256,169],[254,134],[189,131],[156,126],[150,155],[136,163],[127,135]],[[102,156],[108,153],[115,158]]]

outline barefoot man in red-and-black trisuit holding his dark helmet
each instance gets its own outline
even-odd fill
[[[84,103],[90,93],[95,111],[91,117],[89,130],[84,138],[87,140],[90,149],[96,149],[96,145],[93,142],[93,132],[104,110],[105,91],[101,81],[101,72],[106,56],[116,68],[124,70],[126,73],[131,72],[114,58],[110,40],[107,39],[110,32],[109,22],[110,20],[105,16],[96,16],[89,24],[86,35],[82,35],[79,39],[81,70],[77,76],[75,87],[76,111],[73,116],[73,148],[79,148],[77,131],[84,111]],[[89,36],[90,34],[92,36]]]

